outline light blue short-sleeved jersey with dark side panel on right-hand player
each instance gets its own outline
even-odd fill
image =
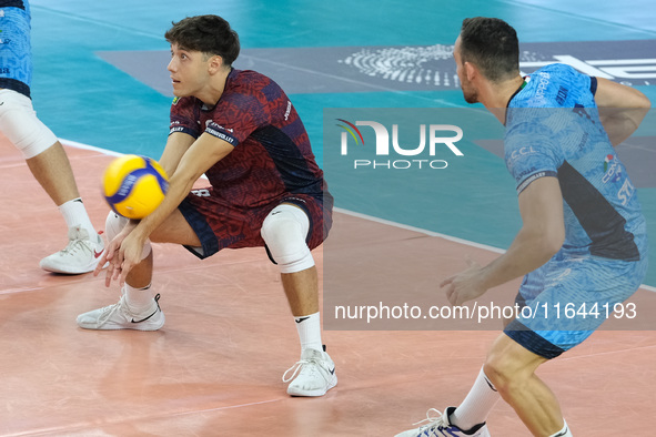
[[[531,75],[508,104],[506,166],[521,193],[556,176],[564,199],[567,255],[637,261],[646,223],[636,189],[598,118],[596,79],[564,64]]]

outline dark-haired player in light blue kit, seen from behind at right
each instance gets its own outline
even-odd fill
[[[515,30],[504,21],[463,21],[457,75],[465,100],[483,103],[506,126],[505,161],[523,225],[504,255],[442,287],[461,305],[524,275],[516,303],[531,312],[508,321],[457,408],[400,436],[490,436],[485,420],[499,397],[533,435],[572,436],[535,370],[587,338],[604,322],[603,308],[628,298],[646,273],[645,218],[614,145],[638,128],[649,100],[563,64],[523,78],[518,53]],[[596,307],[597,316],[565,316],[565,307]]]

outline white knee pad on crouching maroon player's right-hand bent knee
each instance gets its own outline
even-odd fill
[[[262,238],[281,273],[296,273],[314,266],[305,243],[310,220],[303,210],[290,204],[277,205],[262,223]]]

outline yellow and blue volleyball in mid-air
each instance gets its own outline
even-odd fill
[[[123,155],[112,161],[102,179],[107,203],[117,214],[143,218],[164,200],[169,177],[164,169],[147,156]]]

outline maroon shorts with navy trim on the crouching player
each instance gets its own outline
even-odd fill
[[[307,215],[310,228],[305,242],[310,250],[323,243],[332,226],[330,194],[324,202],[322,197],[290,193],[261,207],[240,209],[213,196],[212,187],[209,187],[193,190],[178,206],[201,241],[201,247],[185,247],[201,260],[223,248],[265,247],[260,235],[262,223],[281,203],[294,204]]]

